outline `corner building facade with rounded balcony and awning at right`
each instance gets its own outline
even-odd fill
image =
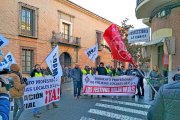
[[[145,43],[151,68],[158,65],[171,80],[180,66],[180,1],[137,0],[136,17],[151,27],[151,41]]]

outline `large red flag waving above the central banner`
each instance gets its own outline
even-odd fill
[[[129,62],[135,67],[131,54],[127,51],[122,37],[119,34],[118,27],[115,24],[110,25],[104,32],[104,39],[108,43],[114,60]]]

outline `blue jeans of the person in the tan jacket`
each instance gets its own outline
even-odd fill
[[[18,120],[23,111],[24,111],[23,97],[14,98],[13,120]]]

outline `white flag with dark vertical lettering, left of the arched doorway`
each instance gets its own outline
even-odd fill
[[[62,76],[62,67],[59,63],[58,46],[56,46],[46,58],[46,63],[52,72],[52,75],[56,78]]]

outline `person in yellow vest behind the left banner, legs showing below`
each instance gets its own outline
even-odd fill
[[[33,70],[30,73],[30,75],[31,75],[31,77],[42,77],[43,76],[42,71],[41,71],[41,67],[40,67],[39,64],[36,64],[34,66]],[[33,116],[35,118],[40,118],[40,114],[41,114],[41,112],[39,112],[38,108],[33,109]]]

